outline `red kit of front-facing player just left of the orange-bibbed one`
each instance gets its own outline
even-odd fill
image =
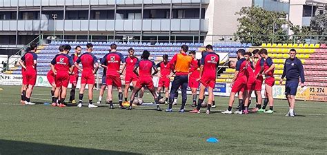
[[[170,78],[168,77],[171,72],[171,65],[169,62],[164,63],[164,61],[158,63],[157,68],[160,68],[160,78],[158,87],[169,87],[170,85]]]

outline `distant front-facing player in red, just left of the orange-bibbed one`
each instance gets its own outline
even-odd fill
[[[168,98],[169,98],[169,85],[170,85],[170,63],[168,61],[168,55],[164,54],[162,56],[163,61],[157,64],[157,68],[160,68],[160,76],[159,76],[159,83],[158,83],[158,89],[157,94],[159,99],[161,99],[161,89],[162,87],[165,88],[165,103],[168,104]]]

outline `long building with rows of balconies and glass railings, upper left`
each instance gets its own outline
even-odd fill
[[[39,34],[81,40],[199,40],[208,0],[2,0],[0,44]],[[78,35],[76,37],[76,35]]]

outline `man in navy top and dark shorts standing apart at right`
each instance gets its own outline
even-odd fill
[[[286,77],[285,94],[288,101],[288,106],[290,110],[286,116],[295,116],[294,106],[295,106],[295,95],[297,94],[297,85],[299,85],[299,77],[301,77],[301,87],[304,87],[304,70],[302,62],[296,57],[297,51],[295,49],[290,49],[290,57],[286,59],[284,64],[283,75],[281,76],[280,84],[283,82],[284,77]]]

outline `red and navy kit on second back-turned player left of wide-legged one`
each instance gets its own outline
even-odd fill
[[[90,52],[86,52],[81,54],[77,59],[76,63],[81,63],[83,66],[83,72],[81,74],[81,84],[95,84],[95,74],[93,74],[93,70],[95,69],[95,63],[97,63],[98,59]]]

